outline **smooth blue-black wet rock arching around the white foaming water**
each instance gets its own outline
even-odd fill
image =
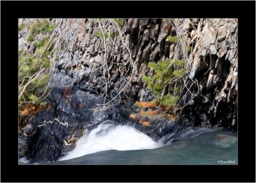
[[[151,138],[158,140],[168,132],[182,129],[182,125],[166,125],[169,120],[161,116],[140,116],[132,119],[134,114],[129,103],[108,106],[103,109],[100,104],[102,99],[97,95],[88,92],[82,92],[75,86],[70,90],[72,95],[67,99],[61,96],[60,88],[56,88],[49,96],[51,109],[37,113],[28,124],[22,128],[23,134],[26,135],[24,142],[20,144],[20,149],[25,148],[19,157],[31,159],[30,163],[45,163],[47,161],[56,161],[66,152],[74,149],[76,141],[107,120],[116,125],[131,125],[136,131],[144,132]],[[67,102],[68,101],[68,102]],[[134,106],[133,106],[134,107]],[[143,125],[141,122],[148,122]],[[33,126],[33,130],[31,127]],[[179,127],[177,127],[179,126]]]

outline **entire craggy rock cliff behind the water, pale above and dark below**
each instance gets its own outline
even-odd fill
[[[96,19],[63,20],[61,26],[67,30],[63,44],[68,49],[60,51],[50,81],[52,92],[46,102],[51,108],[30,116],[26,127],[20,129],[24,134],[28,125],[32,126],[29,127],[33,130],[26,133],[29,136],[26,153],[35,161],[40,161],[38,155],[43,154],[38,152],[38,141],[51,141],[53,148],[49,148],[49,143],[40,143],[40,149],[58,154],[43,158],[54,161],[100,120],[115,119],[134,125],[140,131],[150,132],[148,135],[153,138],[186,126],[237,129],[236,19],[125,19],[120,26],[125,39],[120,38],[108,21],[104,28]],[[116,36],[104,42],[102,36],[97,36],[99,29],[113,30]],[[19,47],[26,43],[26,31],[23,34],[19,35]],[[166,40],[168,35],[178,35],[182,44],[171,44]],[[33,46],[28,47],[29,51],[33,52]],[[129,118],[129,114],[138,112],[134,102],[154,99],[141,77],[153,74],[147,68],[148,61],[166,58],[184,59],[189,68],[184,78],[189,92],[182,93],[186,94],[182,100],[184,108],[178,111],[175,127],[160,123],[156,117],[150,119],[151,127],[141,126],[141,121]],[[99,96],[102,97],[95,98]],[[118,105],[106,106],[102,111],[98,104],[112,99],[115,100],[111,104]],[[54,118],[59,122],[53,123]],[[42,125],[44,120],[48,123]],[[49,129],[58,131],[57,135],[45,133]]]

